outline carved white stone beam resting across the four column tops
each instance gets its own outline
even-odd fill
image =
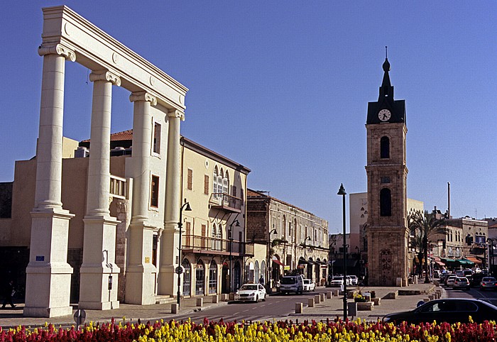
[[[57,49],[89,70],[113,72],[130,92],[145,91],[166,108],[185,109],[186,87],[72,9],[45,8],[43,18],[40,55]]]

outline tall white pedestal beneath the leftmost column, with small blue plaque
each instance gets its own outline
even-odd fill
[[[72,314],[70,307],[72,267],[67,263],[69,220],[64,209],[31,212],[30,262],[26,267],[27,317]]]

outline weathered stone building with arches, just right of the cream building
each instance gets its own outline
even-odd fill
[[[324,285],[328,272],[328,222],[309,211],[249,189],[247,236],[266,246],[265,280],[302,273]],[[262,255],[261,255],[262,256]]]

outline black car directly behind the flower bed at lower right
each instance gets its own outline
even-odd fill
[[[469,316],[476,323],[495,321],[497,319],[497,307],[479,299],[435,299],[411,311],[388,314],[383,317],[383,321],[396,322],[397,324],[403,321],[408,324],[432,323],[432,321],[452,324],[457,322],[466,323],[469,321]]]

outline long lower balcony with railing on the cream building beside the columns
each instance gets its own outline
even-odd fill
[[[184,253],[200,253],[207,255],[230,255],[232,246],[232,256],[252,256],[253,244],[244,241],[231,241],[223,238],[209,238],[199,235],[182,236],[181,249]]]

